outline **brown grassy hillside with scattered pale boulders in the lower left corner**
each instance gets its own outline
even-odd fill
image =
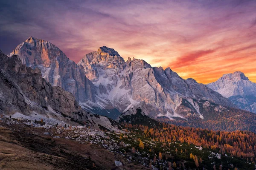
[[[110,134],[119,136],[79,126],[45,126],[43,121],[31,124],[3,117],[0,118],[0,169],[148,169],[116,152],[120,144],[109,139]]]

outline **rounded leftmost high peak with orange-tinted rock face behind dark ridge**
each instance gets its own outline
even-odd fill
[[[16,54],[27,67],[39,68],[42,77],[52,86],[71,92],[78,101],[95,100],[93,84],[84,76],[84,68],[71,61],[48,41],[29,37],[9,56]]]

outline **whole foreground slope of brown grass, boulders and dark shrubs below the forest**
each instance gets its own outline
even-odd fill
[[[148,126],[161,125],[151,121]],[[130,128],[128,128],[130,129]],[[2,170],[254,170],[254,164],[218,150],[187,143],[163,143],[138,129],[109,131],[90,126],[48,124],[41,120],[0,117],[0,169]],[[143,146],[140,146],[140,143]],[[183,150],[183,152],[182,152]],[[159,158],[162,153],[163,159]],[[200,167],[189,154],[203,161]],[[150,167],[150,168],[149,168]]]

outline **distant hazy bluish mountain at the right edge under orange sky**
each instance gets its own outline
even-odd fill
[[[256,113],[256,83],[251,82],[244,73],[236,71],[224,74],[207,86],[230,99],[240,109]]]

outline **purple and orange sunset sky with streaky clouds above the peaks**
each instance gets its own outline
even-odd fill
[[[200,83],[256,82],[255,0],[0,0],[0,49],[31,36],[75,62],[105,45]]]

